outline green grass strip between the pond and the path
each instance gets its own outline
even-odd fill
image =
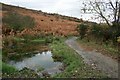
[[[64,41],[64,40],[63,40]],[[83,59],[74,50],[69,48],[64,42],[56,41],[50,46],[52,48],[53,56],[62,61],[65,65],[64,72],[54,75],[54,77],[79,77],[79,78],[93,78],[106,77],[106,75],[98,70],[92,69],[83,62]]]

